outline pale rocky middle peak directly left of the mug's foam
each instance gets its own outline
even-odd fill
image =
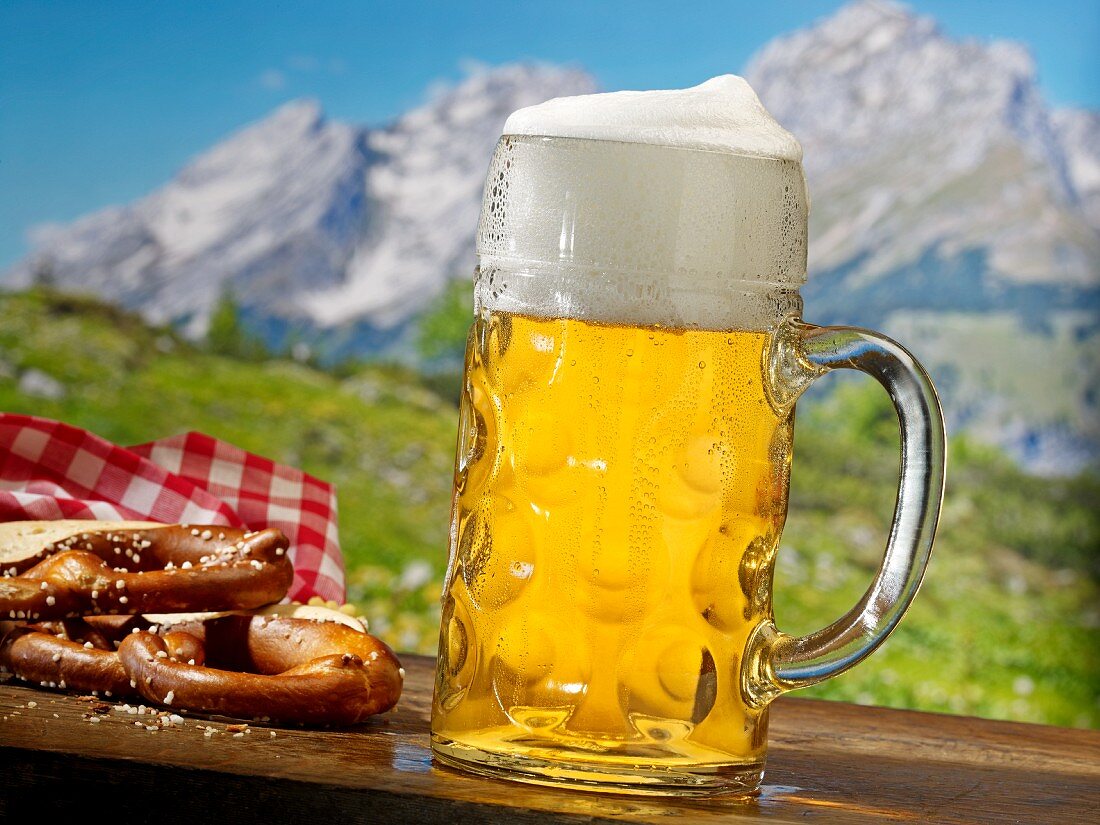
[[[307,297],[309,314],[322,327],[362,317],[393,327],[447,277],[469,274],[485,168],[504,121],[521,107],[593,90],[579,70],[481,70],[373,132],[369,145],[380,161],[369,175],[369,224],[343,278]]]

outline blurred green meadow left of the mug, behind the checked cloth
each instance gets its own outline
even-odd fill
[[[333,483],[354,600],[388,598],[370,565],[399,572],[422,560],[433,581],[442,578],[455,415],[407,370],[364,367],[338,380],[293,361],[243,363],[94,301],[45,293],[0,296],[0,364],[12,373],[0,377],[0,409],[121,444],[199,430]],[[16,376],[32,369],[59,381],[65,397],[23,395]],[[437,598],[416,593],[393,606],[427,616]],[[378,606],[381,626],[392,612]],[[426,650],[432,624],[418,619],[415,640],[397,641]]]

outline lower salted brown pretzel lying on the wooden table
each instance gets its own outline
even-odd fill
[[[146,629],[131,623],[116,629],[130,630],[118,652],[106,635],[95,638],[98,624],[66,623],[59,635],[55,625],[20,626],[0,644],[0,668],[44,686],[140,694],[174,710],[237,718],[353,725],[397,704],[405,672],[385,644],[336,612],[289,610],[338,620],[275,612],[185,616]]]

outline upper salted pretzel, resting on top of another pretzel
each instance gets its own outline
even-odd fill
[[[20,524],[21,558],[9,554],[0,578],[0,617],[9,619],[248,609],[280,600],[294,578],[275,529]],[[34,542],[36,534],[44,538]]]

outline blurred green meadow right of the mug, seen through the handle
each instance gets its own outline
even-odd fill
[[[800,410],[796,429],[776,615],[788,631],[809,632],[854,604],[878,566],[898,436],[869,380]],[[1094,477],[1028,476],[953,440],[936,544],[910,614],[871,659],[806,695],[1096,727],[1098,494]]]

